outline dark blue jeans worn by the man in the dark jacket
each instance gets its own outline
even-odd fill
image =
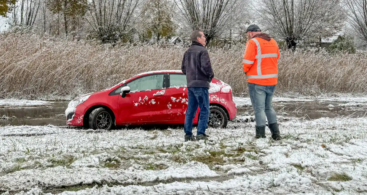
[[[209,120],[209,92],[205,87],[189,87],[188,89],[189,105],[185,116],[185,134],[192,135],[193,119],[195,118],[197,108],[200,107],[200,118],[197,124],[196,135],[205,134]]]

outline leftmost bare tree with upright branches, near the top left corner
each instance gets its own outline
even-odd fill
[[[32,27],[37,19],[40,9],[40,0],[19,0],[12,6],[12,13],[9,15],[11,25],[22,25]]]

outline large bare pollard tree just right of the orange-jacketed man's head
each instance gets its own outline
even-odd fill
[[[297,41],[328,36],[341,27],[341,0],[259,0],[254,6],[266,30],[294,48]]]

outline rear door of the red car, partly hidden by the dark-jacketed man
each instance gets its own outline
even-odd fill
[[[170,121],[185,120],[188,106],[186,75],[167,74],[167,119]]]

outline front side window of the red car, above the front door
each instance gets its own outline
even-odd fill
[[[139,79],[135,79],[126,84],[130,87],[130,91],[146,91],[163,88],[164,74],[153,74]]]

